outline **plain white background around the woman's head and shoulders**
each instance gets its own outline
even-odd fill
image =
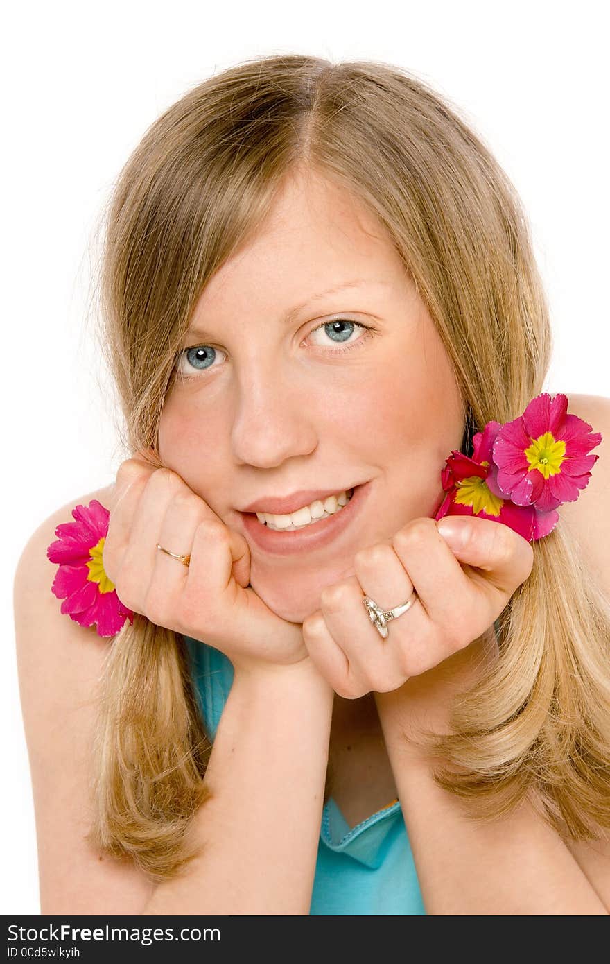
[[[2,914],[40,914],[14,568],[40,522],[111,482],[127,457],[92,337],[94,230],[119,168],[187,88],[240,60],[293,52],[381,60],[431,83],[464,111],[524,202],[554,331],[544,388],[610,396],[604,5],[214,7],[23,2],[3,18]]]

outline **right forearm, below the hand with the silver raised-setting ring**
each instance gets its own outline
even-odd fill
[[[569,849],[531,804],[483,822],[438,787],[431,763],[404,735],[412,711],[418,722],[433,722],[434,713],[426,720],[422,705],[412,710],[400,689],[377,694],[376,701],[428,914],[608,913]]]

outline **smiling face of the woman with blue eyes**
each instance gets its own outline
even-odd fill
[[[255,592],[303,622],[358,549],[436,512],[464,433],[451,363],[383,226],[311,173],[209,281],[191,329],[159,456],[248,541]],[[253,502],[311,504],[312,521],[278,531],[244,513]],[[316,518],[325,503],[337,512]]]

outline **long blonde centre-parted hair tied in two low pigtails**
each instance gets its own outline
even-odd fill
[[[130,453],[156,450],[201,290],[256,232],[297,166],[347,187],[389,231],[463,393],[463,450],[543,387],[551,335],[517,192],[458,110],[379,62],[261,57],[190,90],[119,174],[99,278],[103,344]],[[160,463],[159,463],[160,464]],[[479,817],[530,791],[574,839],[610,826],[608,601],[558,524],[497,621],[499,658],[435,740],[438,782]],[[197,850],[207,738],[185,641],[136,617],[101,680],[89,839],[149,879]],[[327,798],[329,784],[327,783]]]

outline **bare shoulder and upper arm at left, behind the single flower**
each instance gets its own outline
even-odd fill
[[[57,566],[46,549],[71,509],[112,487],[72,499],[28,539],[13,583],[16,660],[39,853],[42,914],[140,914],[152,887],[134,865],[107,859],[91,829],[97,687],[112,640],[61,612],[51,593]]]

